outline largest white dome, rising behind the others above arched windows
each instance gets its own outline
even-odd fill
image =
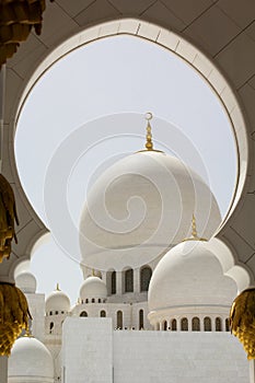
[[[82,262],[94,268],[139,267],[190,232],[210,239],[221,222],[202,178],[163,152],[128,155],[106,170],[88,194],[80,223]]]

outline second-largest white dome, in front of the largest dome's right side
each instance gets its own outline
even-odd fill
[[[187,241],[158,264],[149,286],[150,312],[188,306],[230,306],[236,285],[224,276],[210,242]]]

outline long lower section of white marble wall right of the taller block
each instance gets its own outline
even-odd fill
[[[229,333],[115,332],[115,383],[248,383],[248,362]]]

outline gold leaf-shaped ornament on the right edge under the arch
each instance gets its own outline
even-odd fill
[[[255,359],[255,288],[242,291],[233,301],[230,328],[243,344],[247,359]]]

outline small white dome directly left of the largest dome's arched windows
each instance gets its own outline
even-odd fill
[[[80,298],[85,299],[105,299],[107,297],[107,288],[105,282],[98,277],[89,277],[84,280],[80,289]]]

